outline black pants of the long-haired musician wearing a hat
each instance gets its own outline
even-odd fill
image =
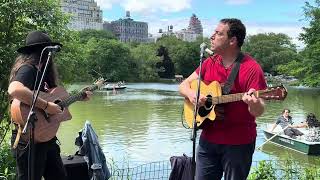
[[[13,133],[12,141],[14,141]],[[57,144],[57,138],[44,143],[38,143],[34,146],[34,180],[65,180],[66,170],[64,169],[61,157],[60,147]],[[13,149],[13,156],[16,159],[17,179],[28,180],[28,152],[29,146],[23,142]]]

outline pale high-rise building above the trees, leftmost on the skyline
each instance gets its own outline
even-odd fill
[[[103,28],[102,10],[94,0],[60,0],[61,9],[71,14],[68,27],[73,30]]]

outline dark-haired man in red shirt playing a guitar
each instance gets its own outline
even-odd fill
[[[204,82],[226,82],[246,36],[246,28],[238,19],[222,19],[211,36],[215,55],[203,62],[201,79]],[[180,87],[180,93],[195,104],[196,91],[190,88],[198,79],[196,69]],[[255,97],[256,90],[266,89],[260,65],[245,54],[230,94],[244,93],[242,101],[223,105],[223,119],[209,121],[203,127],[196,156],[196,179],[245,180],[250,171],[256,140],[256,117],[264,112],[264,102]],[[201,93],[201,92],[200,92]],[[199,97],[204,105],[207,97]]]

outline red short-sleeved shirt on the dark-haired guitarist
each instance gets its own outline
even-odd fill
[[[222,85],[227,81],[233,66],[225,68],[220,55],[209,57],[202,65],[202,80],[208,83],[218,81]],[[196,73],[199,74],[199,68]],[[247,92],[250,88],[264,90],[267,85],[260,65],[245,54],[229,94]],[[202,130],[201,138],[216,144],[252,143],[257,136],[257,125],[255,117],[248,111],[248,105],[237,101],[226,103],[223,107],[224,119],[208,123]]]

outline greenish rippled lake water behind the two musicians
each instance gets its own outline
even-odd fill
[[[257,119],[256,146],[265,141],[262,128],[266,123],[274,122],[284,107],[291,109],[295,122],[303,121],[309,112],[320,117],[319,95],[318,89],[289,88],[285,101],[267,102],[266,112]],[[73,119],[63,123],[58,134],[62,152],[73,154],[77,150],[74,145],[77,132],[86,120],[90,120],[107,160],[112,158],[116,162],[137,165],[169,160],[171,156],[183,153],[191,156],[191,131],[181,124],[183,101],[177,84],[134,83],[128,84],[125,90],[95,92],[91,101],[77,102],[70,107]],[[271,144],[257,150],[254,160],[288,156],[303,163],[319,161],[318,157]]]

